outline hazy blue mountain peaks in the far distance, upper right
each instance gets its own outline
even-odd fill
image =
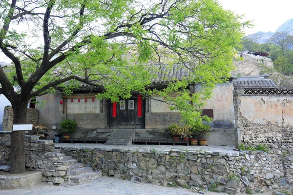
[[[279,32],[286,32],[288,31],[289,35],[293,36],[293,19],[285,21],[281,26],[279,26],[276,30],[276,33]],[[267,40],[269,40],[274,33],[269,32],[262,32],[259,31],[257,33],[251,34],[251,36],[259,36],[260,39],[257,40],[258,43],[266,43]]]

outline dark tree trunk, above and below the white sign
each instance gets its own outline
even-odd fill
[[[26,124],[28,101],[12,103],[13,124]],[[21,174],[25,172],[24,131],[12,131],[10,146],[10,173]]]

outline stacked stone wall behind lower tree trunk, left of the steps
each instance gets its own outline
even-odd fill
[[[0,132],[0,165],[10,165],[11,132]],[[25,136],[25,168],[40,171],[43,181],[63,183],[68,178],[70,165],[62,161],[64,154],[55,153],[52,140],[39,140],[39,136]]]

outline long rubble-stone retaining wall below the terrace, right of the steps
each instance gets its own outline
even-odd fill
[[[101,170],[105,176],[163,186],[196,186],[229,194],[247,187],[289,187],[293,179],[290,161],[281,156],[281,151],[267,154],[61,148],[61,152]]]

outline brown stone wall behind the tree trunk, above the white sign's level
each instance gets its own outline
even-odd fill
[[[38,124],[39,112],[37,109],[27,109],[26,124]],[[2,122],[2,131],[12,131],[13,110],[12,106],[4,107],[4,116]]]

